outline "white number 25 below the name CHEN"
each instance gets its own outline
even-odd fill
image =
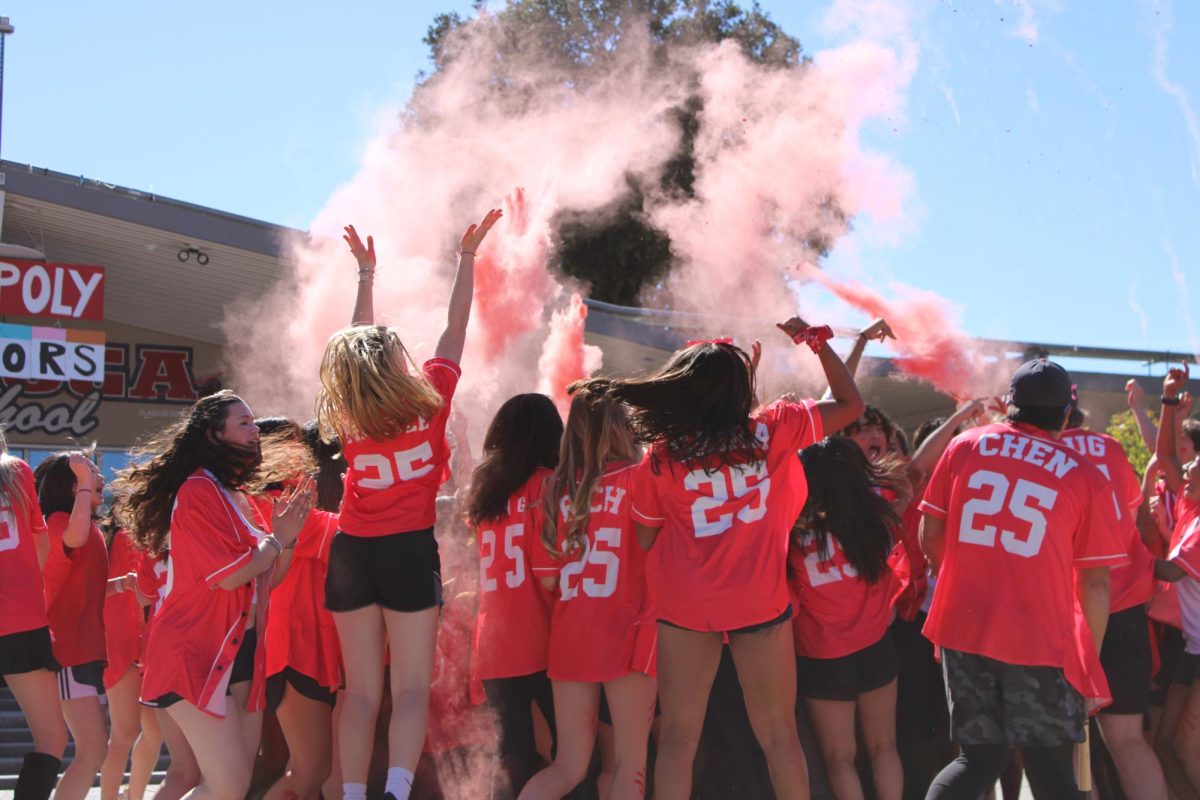
[[[1025,558],[1038,554],[1042,540],[1046,535],[1046,517],[1043,512],[1054,509],[1058,500],[1057,492],[1024,477],[1018,479],[1013,486],[1007,476],[990,469],[974,473],[967,479],[967,486],[972,489],[989,489],[989,494],[964,504],[959,541],[995,547],[997,525],[988,524],[984,519],[1001,513],[1007,505],[1008,513],[1030,524],[1030,533],[1021,539],[1016,531],[1000,530],[1000,546],[1014,555]]]

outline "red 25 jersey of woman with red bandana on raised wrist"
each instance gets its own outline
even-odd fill
[[[661,528],[648,566],[661,620],[731,631],[787,609],[787,540],[809,493],[797,452],[824,431],[812,401],[776,401],[750,425],[762,461],[689,469],[655,445],[638,465],[634,518]]]

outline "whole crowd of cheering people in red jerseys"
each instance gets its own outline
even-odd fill
[[[565,420],[509,398],[473,463],[452,405],[500,216],[463,235],[422,365],[346,229],[355,307],[311,422],[204,397],[110,507],[86,450],[0,459],[17,800],[97,775],[103,800],[976,800],[1022,772],[1037,798],[1200,796],[1186,367],[1157,427],[1130,381],[1144,475],[1045,359],[910,443],[854,380],[887,323],[844,362],[798,318],[772,335],[821,398],[758,397],[758,342],[689,342],[572,384]]]

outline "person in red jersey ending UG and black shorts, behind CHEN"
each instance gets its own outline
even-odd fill
[[[1111,482],[1129,555],[1128,564],[1110,572],[1111,610],[1100,648],[1100,664],[1109,681],[1112,705],[1100,712],[1098,721],[1126,795],[1130,800],[1156,800],[1166,796],[1166,782],[1142,733],[1153,672],[1146,603],[1154,594],[1154,557],[1141,541],[1136,525],[1141,481],[1116,439],[1082,426],[1084,414],[1074,403],[1062,443],[1094,464]]]

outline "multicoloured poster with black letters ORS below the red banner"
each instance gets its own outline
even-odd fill
[[[104,380],[104,333],[0,324],[0,378]]]

